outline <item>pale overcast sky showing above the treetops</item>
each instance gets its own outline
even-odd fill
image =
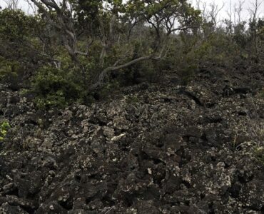
[[[193,3],[196,2],[196,0],[192,0]],[[218,4],[219,7],[223,5],[223,3],[225,4],[225,6],[223,7],[223,9],[220,11],[218,19],[225,19],[228,17],[227,15],[227,11],[229,10],[229,6],[230,6],[230,1],[232,2],[233,6],[235,4],[238,4],[239,1],[243,1],[243,0],[201,0],[202,2],[206,2],[207,6],[209,6],[213,1],[215,2],[215,4]],[[251,7],[252,8],[252,2],[255,0],[244,0],[245,3],[243,4],[243,12],[242,12],[242,19],[248,19],[249,13],[248,13],[248,9]],[[263,1],[260,9],[259,9],[259,16],[264,17],[264,0],[258,0],[258,1]],[[195,5],[195,4],[194,4]],[[2,6],[3,8],[6,6],[4,0],[0,0],[0,6]],[[25,12],[29,11],[29,5],[26,3],[25,0],[19,0],[19,8],[23,9]]]

